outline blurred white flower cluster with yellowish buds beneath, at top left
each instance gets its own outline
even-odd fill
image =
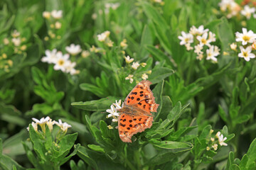
[[[60,39],[61,37],[60,35],[57,35],[57,30],[59,30],[62,26],[60,19],[63,18],[63,11],[44,11],[43,18],[46,18],[46,20],[48,21],[48,25],[50,26],[50,30],[48,30],[49,37],[52,39]],[[48,39],[48,37],[45,38],[45,40]]]

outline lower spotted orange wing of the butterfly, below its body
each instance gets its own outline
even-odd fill
[[[123,142],[132,142],[132,135],[151,128],[153,117],[122,113],[118,118],[119,137]]]

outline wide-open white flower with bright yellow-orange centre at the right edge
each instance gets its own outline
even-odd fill
[[[242,33],[235,33],[235,40],[237,42],[242,41],[242,45],[247,45],[248,42],[252,43],[255,41],[256,34],[252,32],[252,30],[249,30],[247,32],[246,28],[242,28]]]

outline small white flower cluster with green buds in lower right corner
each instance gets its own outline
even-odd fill
[[[210,135],[213,133],[213,130],[210,130]],[[220,132],[217,132],[216,135],[214,137],[210,137],[210,141],[208,143],[208,147],[206,147],[206,150],[217,150],[218,149],[218,145],[221,146],[228,146],[228,144],[226,144],[224,141],[227,140],[227,137],[224,137]]]

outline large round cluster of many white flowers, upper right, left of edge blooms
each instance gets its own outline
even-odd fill
[[[198,60],[203,59],[203,50],[206,50],[206,60],[217,62],[216,57],[220,55],[220,49],[215,45],[210,45],[211,42],[216,41],[215,34],[208,29],[204,29],[203,26],[198,28],[192,26],[189,33],[182,31],[178,39],[181,40],[180,45],[185,45],[188,51],[194,50],[193,52],[196,53]]]

